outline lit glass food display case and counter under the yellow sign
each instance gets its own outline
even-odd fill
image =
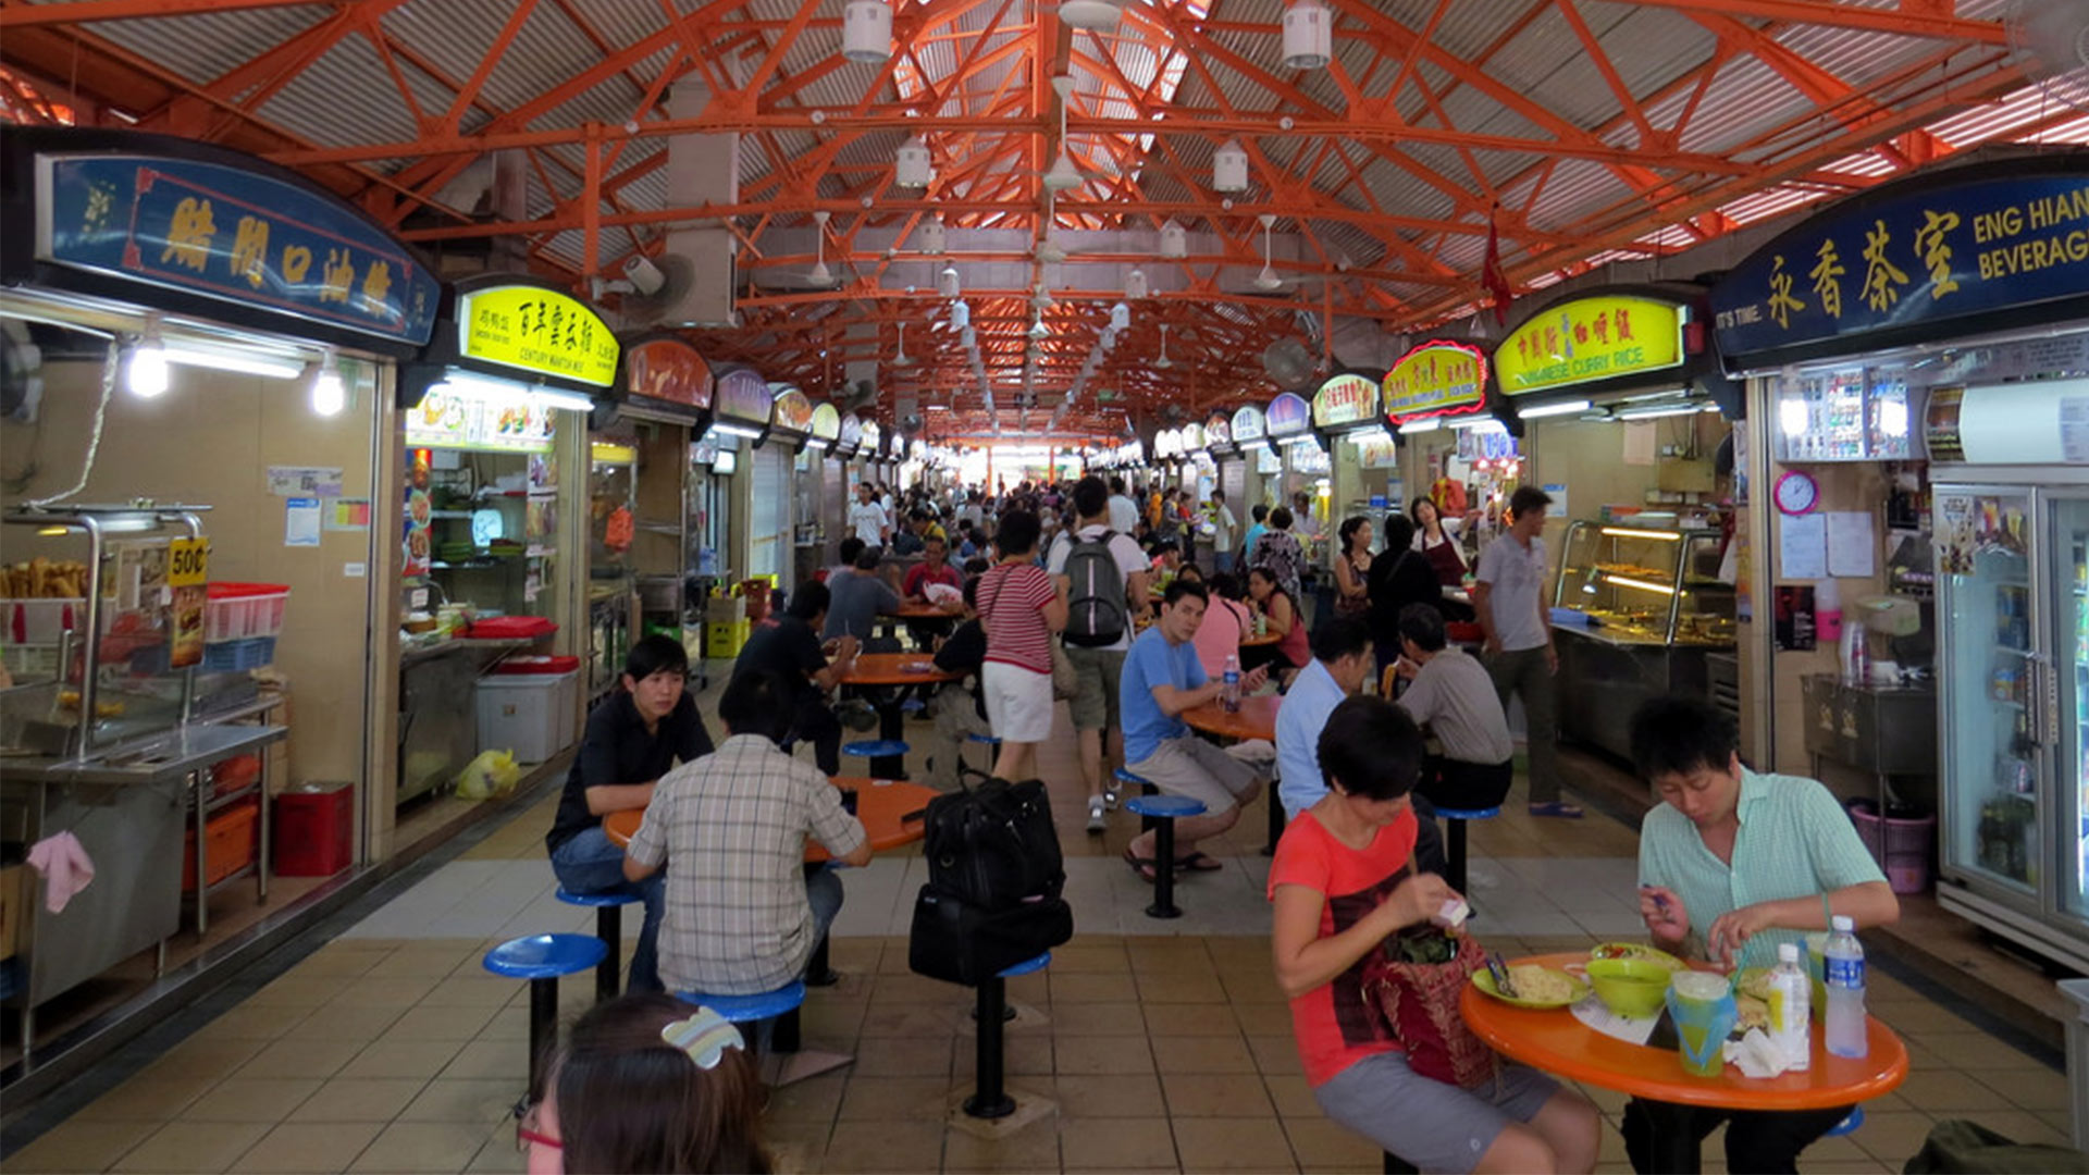
[[[1552,592],[1560,734],[1629,755],[1640,702],[1709,698],[1707,656],[1734,648],[1719,531],[1573,523]]]

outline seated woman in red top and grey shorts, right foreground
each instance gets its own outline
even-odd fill
[[[1320,1110],[1423,1171],[1594,1171],[1602,1121],[1588,1098],[1510,1062],[1475,1089],[1421,1077],[1364,995],[1364,955],[1456,897],[1410,859],[1421,730],[1393,702],[1354,696],[1316,753],[1329,790],[1276,845],[1270,937]]]

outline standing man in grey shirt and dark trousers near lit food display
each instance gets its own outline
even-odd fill
[[[1508,696],[1523,698],[1531,751],[1531,815],[1579,820],[1581,809],[1560,799],[1558,696],[1560,669],[1552,646],[1552,610],[1546,608],[1546,506],[1552,498],[1535,485],[1508,496],[1508,533],[1479,552],[1473,610],[1487,633],[1487,675],[1508,711]]]

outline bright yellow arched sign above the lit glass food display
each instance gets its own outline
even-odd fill
[[[1529,395],[1684,364],[1686,307],[1598,295],[1552,303],[1494,349],[1504,395]]]

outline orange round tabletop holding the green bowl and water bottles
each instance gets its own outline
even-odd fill
[[[1533,955],[1515,960],[1563,968],[1588,962],[1586,953]],[[1554,1077],[1586,1081],[1617,1093],[1711,1106],[1719,1110],[1826,1110],[1888,1093],[1907,1077],[1907,1047],[1886,1024],[1870,1018],[1865,1058],[1830,1056],[1822,1045],[1822,1024],[1813,1020],[1813,1068],[1782,1077],[1742,1077],[1734,1064],[1719,1077],[1690,1077],[1675,1050],[1625,1043],[1575,1020],[1560,1008],[1535,1012],[1502,1004],[1471,983],[1458,997],[1458,1012],[1494,1052],[1542,1068]]]

